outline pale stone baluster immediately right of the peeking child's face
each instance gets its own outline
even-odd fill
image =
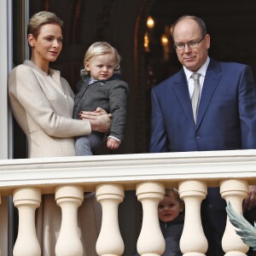
[[[201,224],[201,201],[206,198],[207,183],[183,181],[178,187],[180,197],[185,203],[181,251],[183,256],[203,256],[207,253],[208,242]]]

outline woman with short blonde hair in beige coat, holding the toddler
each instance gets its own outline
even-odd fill
[[[59,71],[49,68],[49,62],[55,61],[61,53],[61,28],[62,21],[53,13],[42,11],[33,15],[27,26],[31,60],[24,61],[9,74],[9,102],[15,119],[26,134],[30,158],[74,156],[74,137],[90,135],[91,131],[107,132],[111,123],[109,115],[102,109],[81,113],[83,119],[72,118],[73,91]],[[84,201],[79,209],[81,240],[85,243],[84,251],[90,256],[96,255],[96,224],[100,222],[95,217],[95,210],[100,212],[100,207],[94,199]],[[54,195],[44,195],[37,215],[42,255],[55,255],[61,208],[56,206]],[[86,219],[90,224],[85,222]],[[90,237],[86,237],[87,228]]]

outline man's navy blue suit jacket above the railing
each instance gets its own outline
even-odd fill
[[[250,67],[211,59],[195,125],[183,68],[151,92],[150,152],[256,148],[256,85]]]

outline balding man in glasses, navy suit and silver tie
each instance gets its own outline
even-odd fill
[[[179,18],[172,28],[172,38],[183,68],[152,89],[150,152],[256,148],[256,85],[251,68],[212,60],[208,56],[210,35],[198,17]],[[193,73],[199,77],[196,99]],[[196,102],[195,108],[191,101]],[[254,204],[255,186],[249,186],[243,207],[250,210]],[[209,242],[207,255],[224,255],[224,207],[219,188],[209,188],[202,204]]]

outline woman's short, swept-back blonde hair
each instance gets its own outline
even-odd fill
[[[63,21],[58,18],[54,13],[48,11],[41,11],[32,15],[31,19],[28,21],[26,34],[32,34],[34,38],[38,38],[41,26],[45,24],[57,24],[63,26]]]

